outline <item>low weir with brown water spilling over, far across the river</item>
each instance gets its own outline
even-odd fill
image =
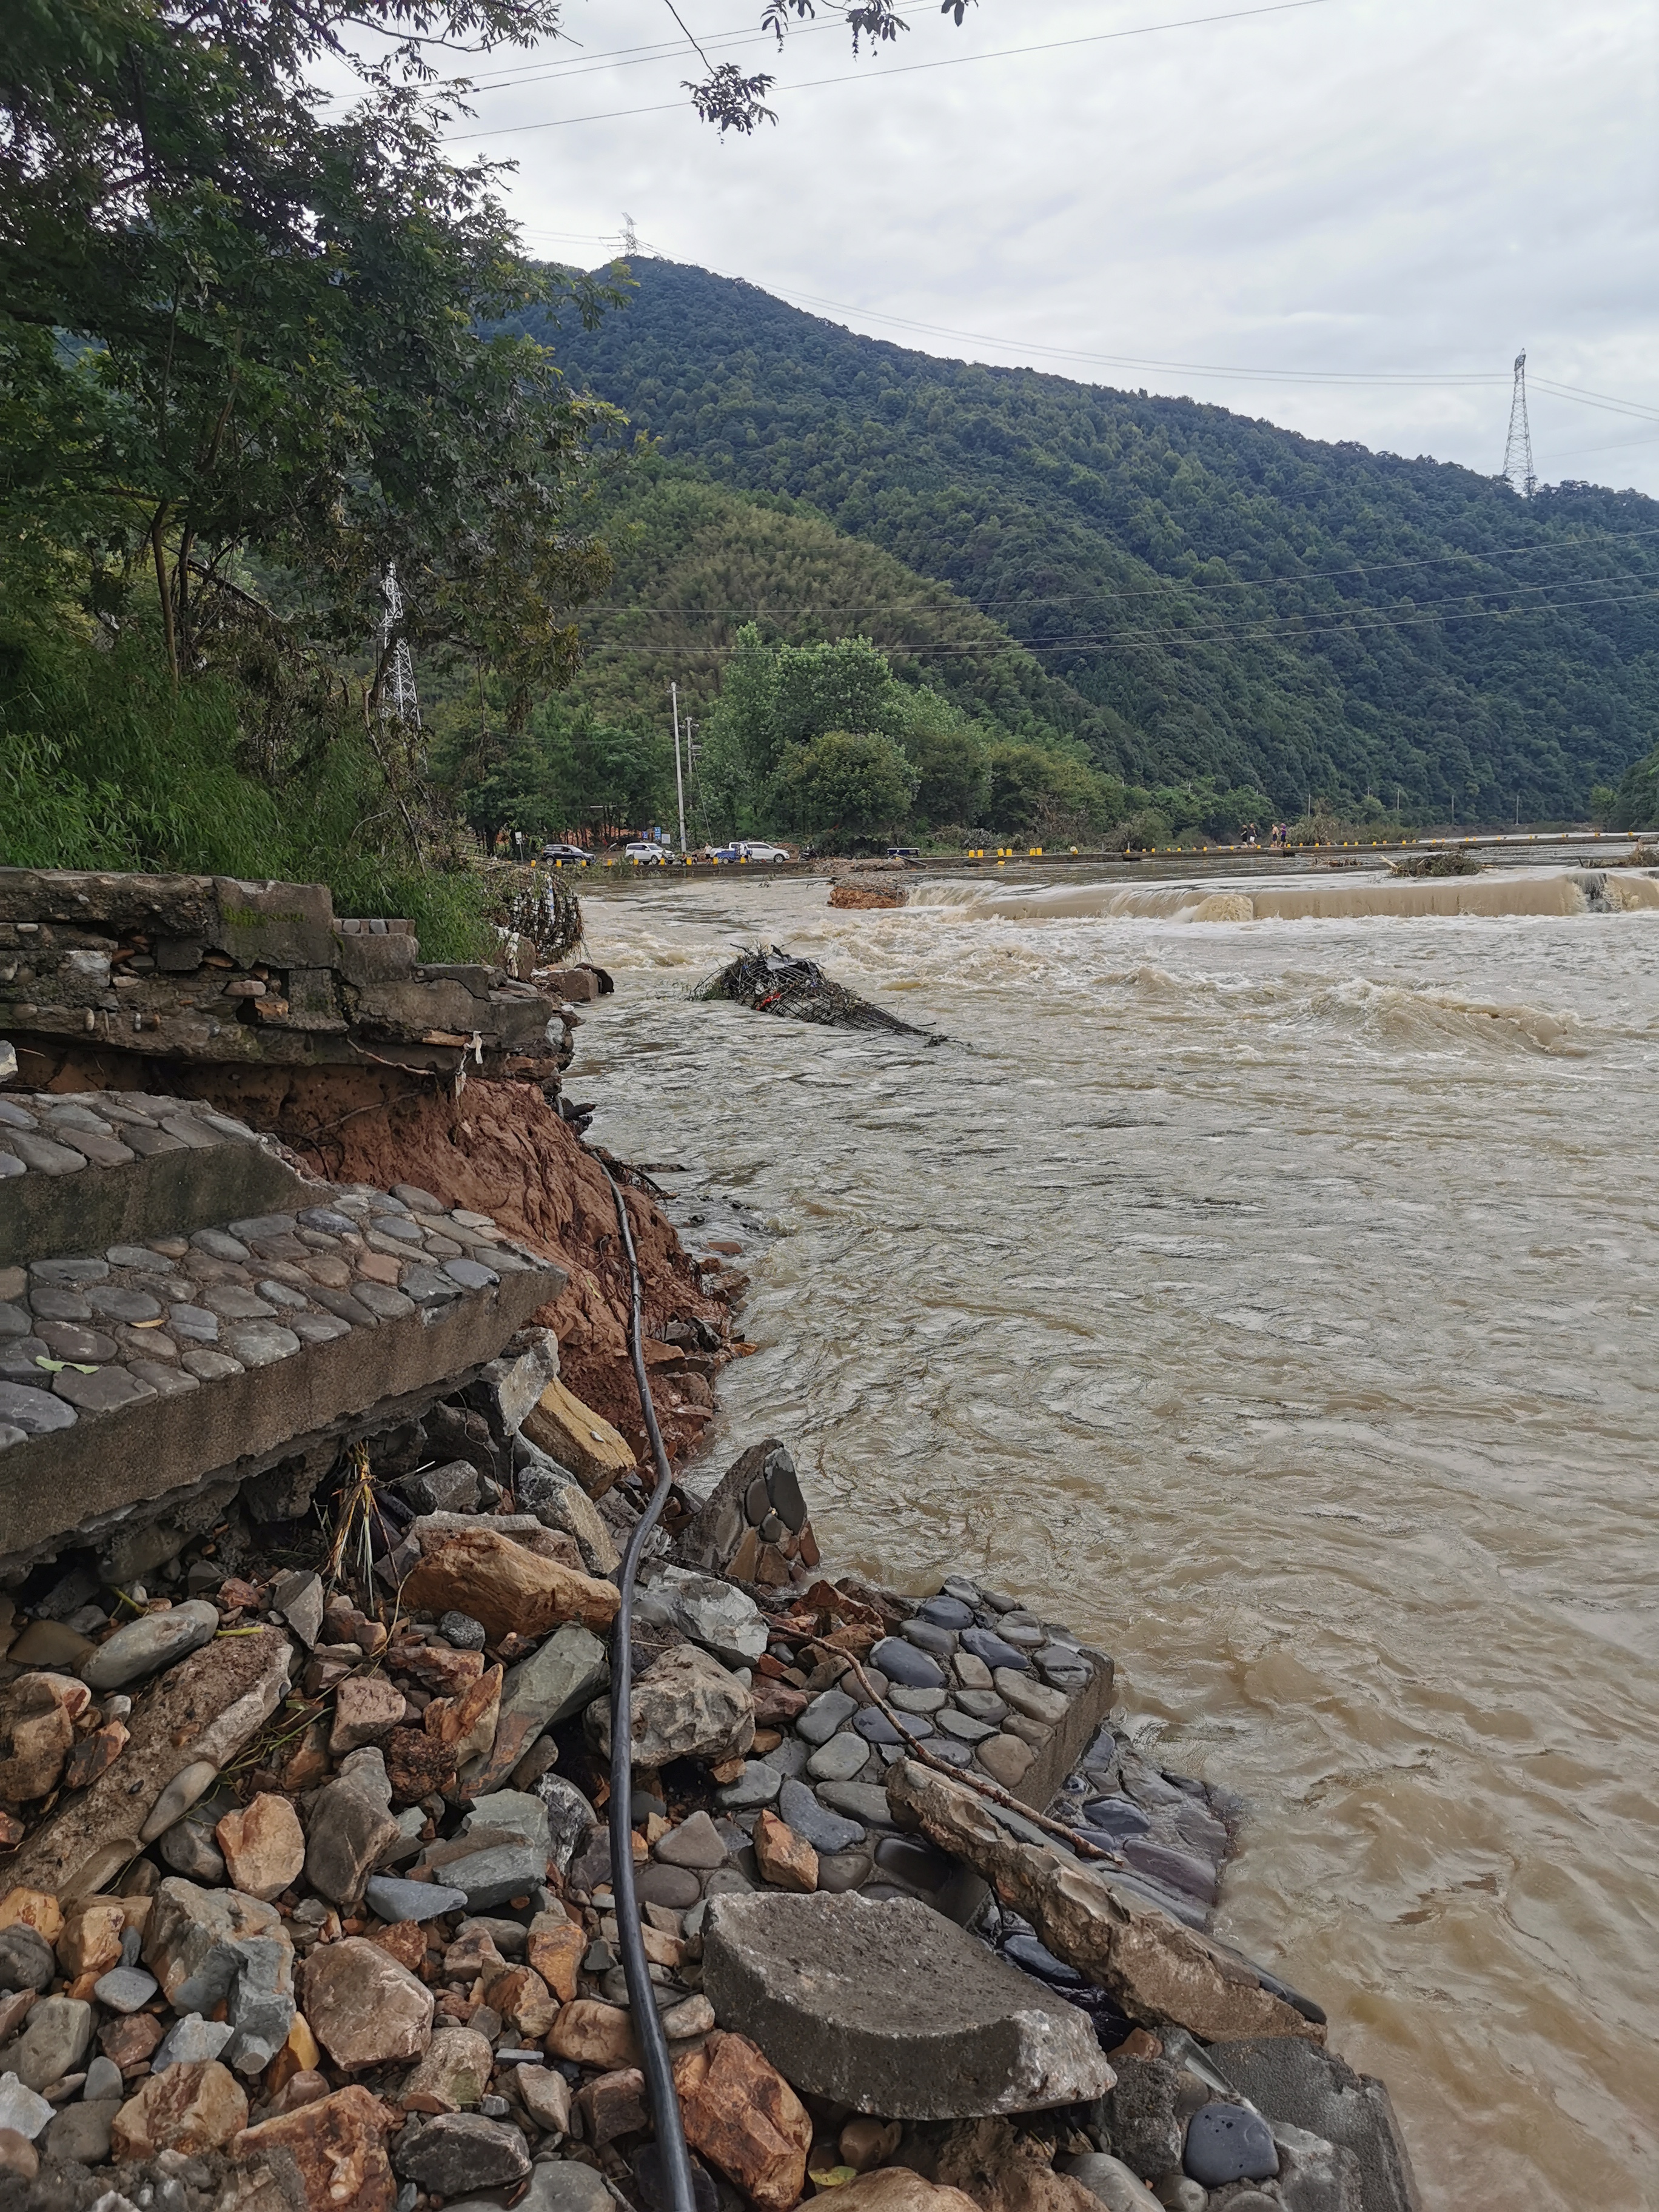
[[[1013,885],[922,883],[911,907],[960,907],[975,920],[1155,920],[1155,922],[1305,922],[1349,918],[1418,918],[1427,914],[1659,914],[1659,880],[1599,867],[1553,876],[1489,869],[1482,876],[1418,878],[1363,876],[1358,883],[1239,885],[1168,883],[1124,885]]]

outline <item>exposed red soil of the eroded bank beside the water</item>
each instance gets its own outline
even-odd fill
[[[380,1190],[418,1183],[445,1206],[471,1206],[557,1261],[571,1281],[535,1318],[557,1332],[564,1383],[604,1413],[641,1460],[648,1455],[628,1360],[628,1261],[611,1183],[535,1084],[473,1079],[460,1099],[398,1099],[383,1113],[341,1124],[325,1152],[303,1144],[299,1152],[314,1175],[332,1181]],[[728,1307],[699,1287],[675,1225],[644,1192],[624,1197],[639,1254],[646,1336],[661,1338],[675,1321],[701,1321],[726,1338]],[[710,1418],[708,1380],[681,1365],[657,1367],[650,1396],[670,1458],[684,1458]]]

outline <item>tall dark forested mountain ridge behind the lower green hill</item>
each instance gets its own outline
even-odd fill
[[[984,677],[980,712],[1071,732],[1117,776],[1546,818],[1659,737],[1655,500],[1522,500],[1194,400],[936,361],[706,270],[635,276],[597,330],[515,327],[666,456],[953,586],[1029,653],[940,641],[927,681],[969,703]],[[628,619],[641,644],[666,617]],[[739,611],[672,619],[690,646]],[[896,606],[814,619],[883,635]]]

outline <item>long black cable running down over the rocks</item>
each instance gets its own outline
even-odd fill
[[[650,1980],[646,1942],[639,1933],[639,1905],[633,1893],[633,1579],[639,1573],[639,1553],[646,1537],[657,1526],[661,1509],[668,1504],[668,1453],[657,1427],[657,1409],[650,1402],[646,1383],[646,1354],[639,1318],[639,1259],[628,1228],[628,1208],[622,1201],[622,1186],[611,1168],[599,1161],[611,1197],[617,1201],[622,1223],[622,1248],[628,1254],[633,1276],[633,1314],[628,1321],[628,1349],[633,1352],[633,1378],[639,1387],[639,1411],[646,1418],[650,1455],[657,1462],[657,1486],[650,1504],[628,1537],[628,1548],[617,1568],[622,1604],[611,1641],[611,1898],[617,1911],[617,1942],[622,1944],[622,1973],[628,1982],[628,2004],[633,2008],[633,2031],[639,2042],[639,2062],[650,2095],[650,2115],[657,2126],[657,2150],[661,2154],[661,2179],[668,2190],[668,2212],[697,2212],[697,2190],[692,2185],[690,2152],[686,2150],[686,2124],[679,2117],[679,2095],[675,2093],[675,2070],[668,2064],[668,2037],[657,2015],[657,1984]]]

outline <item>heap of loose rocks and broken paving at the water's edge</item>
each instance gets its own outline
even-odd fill
[[[246,1531],[173,1601],[22,1584],[0,2199],[661,2212],[597,1809],[644,1493],[529,1438],[602,1442],[555,1385],[489,1391],[469,1455],[347,1471],[332,1579]],[[783,1584],[710,1573],[772,1520]],[[1407,2205],[1387,2099],[1203,1933],[1230,1807],[1113,1730],[1110,1659],[967,1579],[814,1579],[803,1535],[768,1440],[637,1597],[635,1891],[706,2203]]]

